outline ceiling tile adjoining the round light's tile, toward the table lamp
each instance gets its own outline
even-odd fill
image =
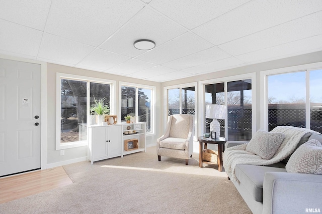
[[[163,64],[211,47],[213,45],[198,36],[186,33],[138,56],[137,59],[155,64]]]

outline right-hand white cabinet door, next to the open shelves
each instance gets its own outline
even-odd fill
[[[108,127],[108,155],[121,154],[121,126]]]

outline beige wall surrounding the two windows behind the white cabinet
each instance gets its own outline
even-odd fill
[[[60,151],[56,150],[56,73],[115,80],[117,96],[114,102],[116,103],[116,111],[119,109],[119,81],[155,86],[157,98],[155,119],[156,121],[161,119],[160,105],[162,102],[160,102],[161,99],[159,99],[161,96],[160,83],[47,63],[47,168],[82,161],[87,157],[87,146],[65,149],[65,154],[63,156],[60,156]],[[155,135],[146,137],[147,147],[156,145],[156,138],[161,135],[158,122],[156,122],[156,125]]]

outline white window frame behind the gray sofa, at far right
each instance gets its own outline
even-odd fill
[[[317,69],[322,69],[321,62],[260,72],[260,95],[261,97],[264,97],[264,99],[261,99],[260,101],[260,109],[263,110],[263,113],[260,115],[260,129],[268,131],[268,76],[294,72],[305,72],[305,127],[310,129],[309,72]]]

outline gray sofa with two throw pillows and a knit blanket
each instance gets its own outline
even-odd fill
[[[305,134],[296,148],[311,139],[322,142],[322,134]],[[227,141],[226,148],[241,143],[248,142]],[[322,175],[288,173],[289,157],[269,166],[236,165],[239,182],[232,182],[253,213],[322,212]]]

